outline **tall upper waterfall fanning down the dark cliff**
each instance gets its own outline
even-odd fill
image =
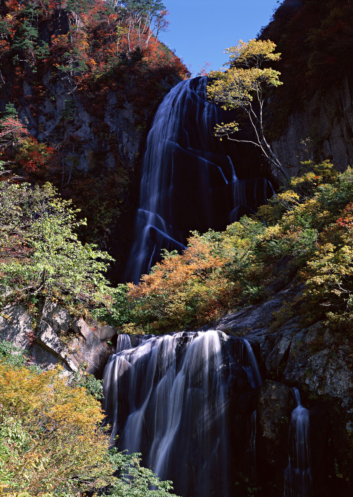
[[[125,280],[138,283],[162,248],[185,248],[190,230],[225,229],[266,202],[265,178],[238,180],[213,130],[219,109],[207,102],[207,77],[177,84],[159,106],[147,137],[135,240]]]

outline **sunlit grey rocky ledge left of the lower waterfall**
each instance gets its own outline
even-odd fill
[[[42,302],[35,315],[23,304],[8,305],[0,313],[0,338],[28,351],[34,364],[46,369],[61,364],[68,373],[85,365],[97,378],[114,352],[117,332],[93,320],[73,318],[49,300]]]

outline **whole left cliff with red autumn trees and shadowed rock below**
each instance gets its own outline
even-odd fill
[[[167,15],[156,0],[0,2],[3,167],[73,198],[101,246],[148,119],[188,75],[158,40]]]

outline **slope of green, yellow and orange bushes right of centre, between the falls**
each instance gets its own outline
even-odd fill
[[[194,233],[181,254],[166,253],[130,285],[130,331],[203,325],[260,303],[296,278],[284,304],[305,323],[324,320],[353,331],[353,171],[325,161],[303,164],[287,190],[222,233]],[[264,223],[265,222],[265,223]],[[290,278],[288,277],[290,276]]]

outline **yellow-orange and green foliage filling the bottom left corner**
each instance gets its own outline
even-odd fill
[[[170,496],[172,482],[140,467],[138,454],[108,450],[109,430],[100,426],[104,413],[89,393],[92,382],[79,385],[62,373],[31,368],[28,357],[0,340],[2,493],[71,497],[99,489],[116,497]]]

